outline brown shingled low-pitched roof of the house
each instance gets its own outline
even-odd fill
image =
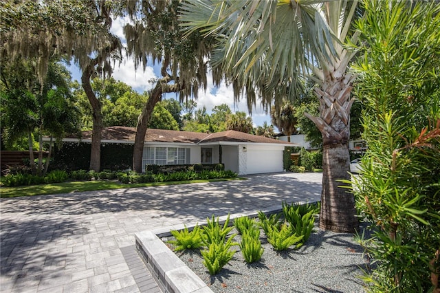
[[[113,126],[102,130],[101,140],[110,141],[133,141],[135,140],[136,129],[134,127]],[[67,138],[78,138],[70,135]],[[91,131],[83,131],[81,140],[91,140]],[[208,143],[208,142],[254,142],[271,144],[289,144],[288,142],[265,138],[259,135],[252,135],[234,130],[221,131],[217,133],[201,133],[191,131],[176,131],[165,129],[147,129],[145,142],[178,142],[178,143]]]

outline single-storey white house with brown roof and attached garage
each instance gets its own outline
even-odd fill
[[[101,149],[109,145],[133,145],[135,133],[133,127],[107,127],[102,131]],[[81,138],[72,135],[63,139],[63,143],[76,146],[80,143],[90,144],[91,131],[84,131]],[[281,172],[285,146],[296,144],[233,130],[199,133],[148,129],[142,155],[142,171],[145,171],[147,164],[222,163],[226,170],[239,175]],[[71,150],[71,154],[78,152],[78,149]]]

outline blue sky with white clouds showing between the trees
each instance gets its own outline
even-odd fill
[[[125,38],[122,28],[126,21],[127,20],[124,18],[115,19],[113,20],[111,27],[111,32],[119,36],[123,44],[125,43]],[[80,81],[81,73],[78,67],[72,63],[68,66],[68,69],[70,72],[72,72],[72,78]],[[149,89],[153,88],[154,84],[148,83],[148,80],[160,76],[160,66],[157,64],[153,66],[153,63],[151,62],[150,66],[146,67],[145,70],[138,68],[136,71],[133,61],[129,58],[124,58],[124,61],[122,61],[120,66],[115,65],[112,76],[115,78],[115,80],[120,80],[123,83],[130,85],[133,89],[135,89],[135,91],[143,93],[144,91],[148,91]],[[212,76],[208,74],[207,78],[208,87],[206,91],[204,89],[199,89],[197,109],[200,109],[204,106],[206,107],[208,113],[211,113],[212,108],[215,106],[227,104],[232,112],[243,111],[248,113],[248,106],[246,105],[245,97],[241,98],[241,100],[234,105],[234,92],[232,87],[227,87],[224,83],[221,83],[219,87],[214,87],[214,84],[212,83]],[[166,96],[163,98],[177,99],[177,96],[176,94],[166,94]],[[252,109],[251,118],[252,122],[254,122],[254,127],[263,126],[264,122],[267,122],[269,125],[272,124],[270,114],[265,113],[263,107],[259,105],[258,101],[256,107]]]

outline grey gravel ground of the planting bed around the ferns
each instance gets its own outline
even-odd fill
[[[214,292],[365,292],[358,276],[369,268],[369,260],[353,235],[315,230],[303,247],[283,252],[273,250],[261,231],[264,253],[259,262],[246,263],[236,246],[234,258],[214,276],[199,250],[176,254]],[[240,235],[234,241],[241,241]]]

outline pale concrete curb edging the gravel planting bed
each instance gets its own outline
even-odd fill
[[[298,202],[298,204],[306,204]],[[266,215],[281,212],[281,206],[271,206],[262,210]],[[239,217],[258,217],[258,213],[238,213],[230,215],[229,225]],[[228,216],[219,218],[219,224],[224,224]],[[217,217],[216,217],[217,220]],[[136,250],[140,254],[153,278],[164,293],[210,293],[212,290],[195,272],[192,272],[177,255],[160,239],[170,236],[171,230],[194,229],[197,223],[180,224],[156,230],[146,230],[135,234]]]

